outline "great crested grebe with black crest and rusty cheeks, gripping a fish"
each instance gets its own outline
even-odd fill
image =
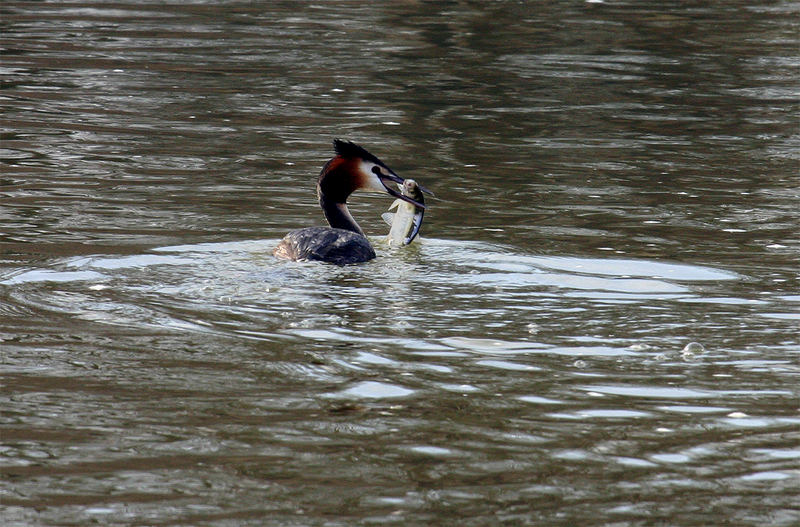
[[[335,139],[333,149],[336,156],[325,163],[317,180],[319,206],[330,227],[307,227],[290,232],[273,252],[278,258],[318,260],[338,265],[375,258],[375,251],[364,231],[347,210],[348,196],[358,189],[385,192],[425,208],[422,203],[391,188],[390,182],[402,184],[403,178],[364,148]]]

